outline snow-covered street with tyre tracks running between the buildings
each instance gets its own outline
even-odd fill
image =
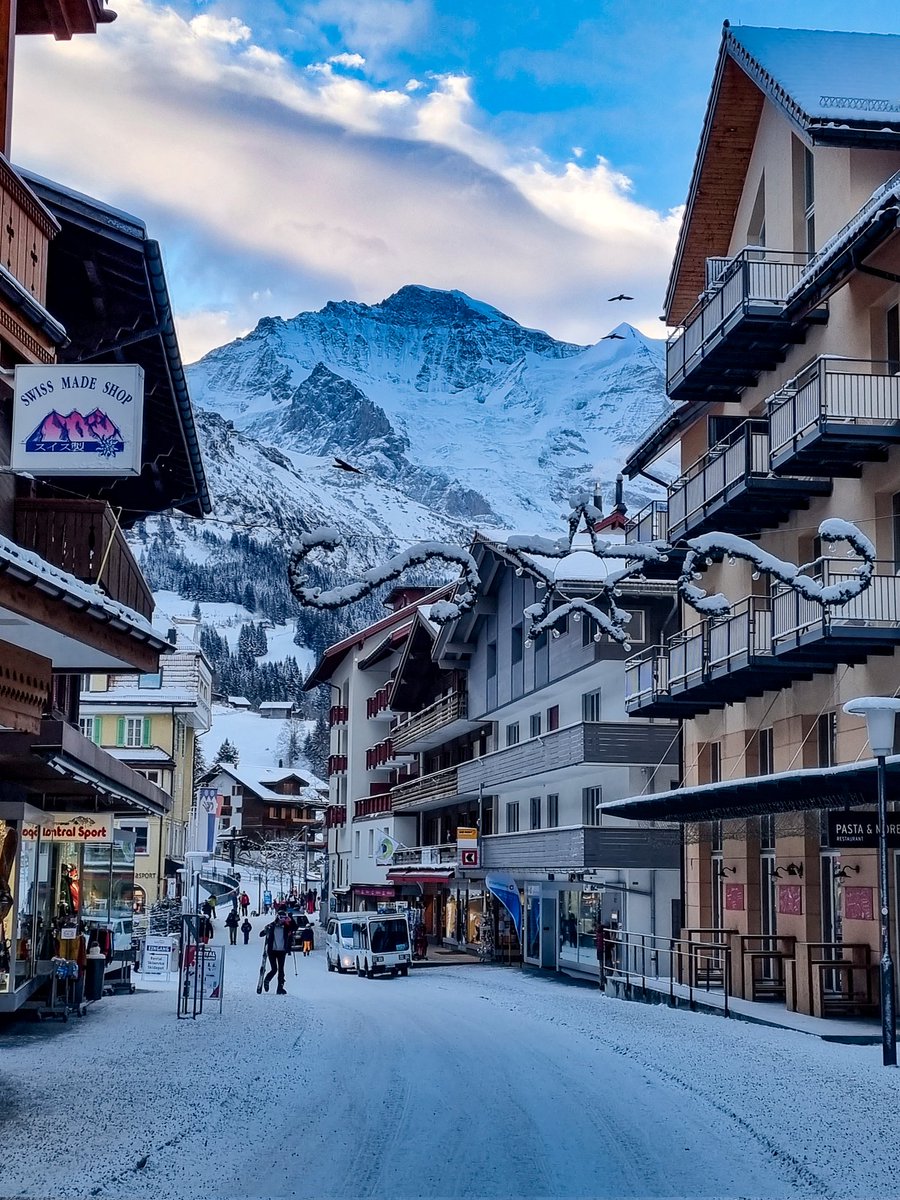
[[[257,996],[259,949],[229,950],[222,1016],[139,985],[0,1032],[0,1193],[900,1195],[877,1046],[515,968],[340,977],[320,949]]]

